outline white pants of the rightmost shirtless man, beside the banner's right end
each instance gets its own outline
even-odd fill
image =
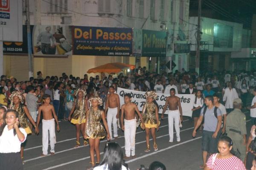
[[[168,110],[169,142],[173,142],[173,123],[176,131],[177,141],[180,141],[180,112],[179,110]]]

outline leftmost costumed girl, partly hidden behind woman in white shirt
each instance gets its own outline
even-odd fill
[[[33,126],[35,127],[35,133],[39,133],[38,127],[35,124],[35,121],[33,120],[33,118],[31,117],[31,115],[29,114],[29,110],[26,106],[24,106],[23,103],[23,98],[20,92],[18,91],[14,91],[12,92],[12,94],[9,97],[9,100],[11,101],[10,104],[10,108],[14,109],[17,114],[18,114],[18,118],[19,118],[19,122],[20,122],[20,127],[22,127],[27,134],[32,133],[30,128],[29,128],[29,121],[33,124]],[[21,144],[21,148],[20,148],[20,157],[21,159],[23,159],[23,151],[24,151],[24,145],[26,142]]]

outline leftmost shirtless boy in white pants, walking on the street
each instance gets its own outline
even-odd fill
[[[40,118],[41,118],[41,112],[43,112],[43,120],[42,120],[42,124],[43,124],[43,127],[42,127],[43,154],[41,156],[47,156],[47,154],[48,154],[49,139],[50,139],[50,146],[51,146],[50,153],[51,153],[51,155],[54,155],[54,153],[55,153],[54,144],[56,143],[54,120],[57,123],[57,131],[60,130],[60,127],[58,124],[58,118],[55,114],[54,107],[50,104],[50,102],[51,102],[50,95],[45,94],[45,95],[43,95],[42,99],[43,99],[44,104],[39,107],[38,118],[37,118],[37,127],[38,127]],[[48,138],[48,130],[49,130],[49,134],[50,134],[49,138]]]

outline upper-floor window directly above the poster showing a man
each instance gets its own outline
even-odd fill
[[[67,0],[49,0],[50,13],[67,13]]]

